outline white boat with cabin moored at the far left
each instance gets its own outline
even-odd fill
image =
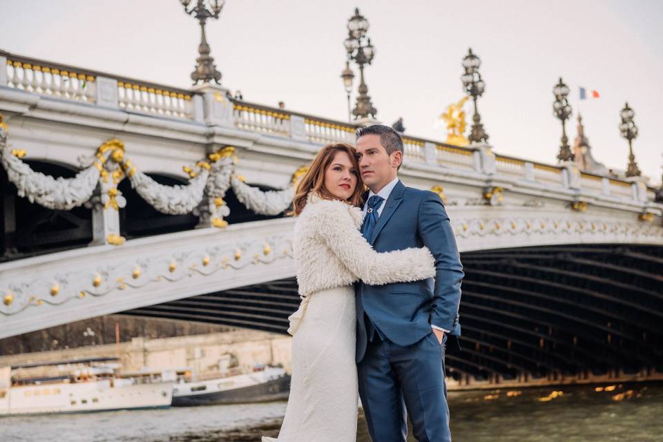
[[[174,376],[171,381],[151,375],[123,378],[116,374],[118,364],[93,366],[91,361],[0,367],[0,416],[136,410],[171,405]],[[55,371],[62,374],[21,376],[29,372],[28,368],[52,365],[57,365]]]

